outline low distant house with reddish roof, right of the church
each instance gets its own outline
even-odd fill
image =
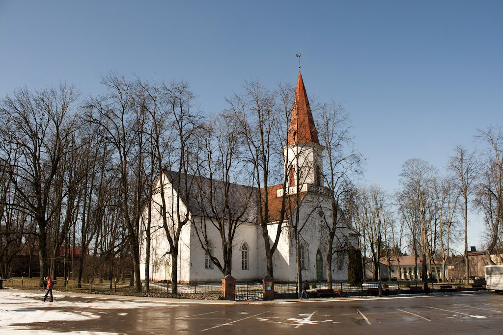
[[[382,259],[382,263],[386,268],[388,267],[387,260]],[[398,263],[400,264],[399,268]],[[417,270],[414,270],[416,264]],[[423,260],[420,257],[417,257],[416,262],[414,261],[414,256],[399,256],[398,260],[396,256],[392,256],[389,265],[391,269],[390,278],[392,280],[421,280],[423,278]],[[435,271],[435,267],[437,267],[437,271]],[[435,265],[431,262],[427,262],[426,269],[428,271],[428,279],[436,280],[437,272],[441,277],[442,264]]]

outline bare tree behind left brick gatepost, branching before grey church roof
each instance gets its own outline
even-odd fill
[[[233,113],[223,112],[207,127],[203,140],[203,163],[200,166],[196,189],[201,221],[194,220],[196,235],[211,262],[224,276],[232,274],[232,252],[238,228],[245,221],[255,221],[257,189],[236,184],[245,181],[243,138]],[[220,238],[222,262],[212,253],[211,236]],[[247,268],[247,264],[242,264]]]

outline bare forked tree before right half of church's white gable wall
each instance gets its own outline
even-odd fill
[[[182,200],[191,199],[199,159],[197,139],[201,135],[203,115],[195,108],[195,95],[185,82],[168,85],[143,85],[149,101],[144,108],[152,121],[153,153],[158,176],[156,192],[159,200],[153,203],[161,218],[171,255],[173,293],[178,293],[178,256],[180,234],[190,224]],[[168,187],[170,186],[170,187]]]

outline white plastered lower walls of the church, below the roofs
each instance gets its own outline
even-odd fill
[[[171,188],[171,185],[166,185],[166,203],[169,210],[174,211],[171,204],[172,197],[177,198],[176,192]],[[159,203],[160,195],[154,196],[154,202]],[[180,201],[182,215],[187,214],[187,208]],[[310,281],[316,280],[316,253],[318,249],[322,254],[322,278],[326,280],[326,252],[327,252],[327,230],[324,227],[323,220],[331,219],[331,203],[330,198],[326,194],[308,192],[304,197],[300,209],[300,224],[308,222],[301,232],[301,241],[306,246],[306,268],[303,270],[303,279]],[[190,215],[190,213],[189,213]],[[295,215],[293,216],[295,217]],[[196,222],[201,222],[201,217],[194,218]],[[270,224],[268,226],[270,242],[272,243],[278,224]],[[291,224],[290,224],[291,225]],[[158,229],[160,228],[160,229]],[[222,261],[222,245],[218,231],[208,225],[210,238],[214,246],[213,255]],[[160,216],[158,206],[152,211],[152,239],[150,245],[150,279],[164,280],[171,279],[171,256],[165,255],[170,250],[164,229],[162,228],[162,218]],[[336,241],[344,240],[349,234],[348,229],[340,229],[337,231]],[[295,246],[294,230],[290,226],[282,230],[277,250],[273,257],[274,277],[281,281],[295,281],[296,273],[296,246]],[[356,236],[350,236],[356,244]],[[248,269],[241,269],[241,251],[240,247],[243,242],[248,246]],[[145,250],[144,242],[141,252],[141,278],[144,279],[144,263]],[[332,257],[332,280],[347,279],[347,252],[344,252],[343,262],[337,256]],[[237,280],[261,279],[266,275],[266,257],[264,241],[262,238],[262,229],[256,224],[244,222],[237,231],[233,245],[233,261],[232,261],[232,276]],[[205,252],[195,234],[192,225],[186,225],[182,229],[180,237],[180,253],[178,259],[178,280],[182,282],[189,281],[219,281],[223,275],[216,266],[213,269],[205,269]]]

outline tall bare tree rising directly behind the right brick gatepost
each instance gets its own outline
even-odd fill
[[[241,127],[246,147],[246,158],[253,169],[253,184],[261,188],[259,197],[259,224],[262,228],[266,253],[267,274],[274,277],[273,256],[279,243],[287,219],[290,200],[281,197],[279,213],[273,209],[273,200],[278,189],[286,194],[288,174],[278,171],[289,163],[283,159],[281,148],[286,145],[286,132],[291,116],[293,88],[279,85],[276,92],[270,92],[259,81],[248,81],[242,94],[233,94],[227,99],[229,109],[236,116]],[[285,127],[286,125],[286,127]],[[279,182],[274,185],[273,182]],[[277,221],[275,234],[270,236],[270,222]],[[299,291],[300,292],[300,291]]]

